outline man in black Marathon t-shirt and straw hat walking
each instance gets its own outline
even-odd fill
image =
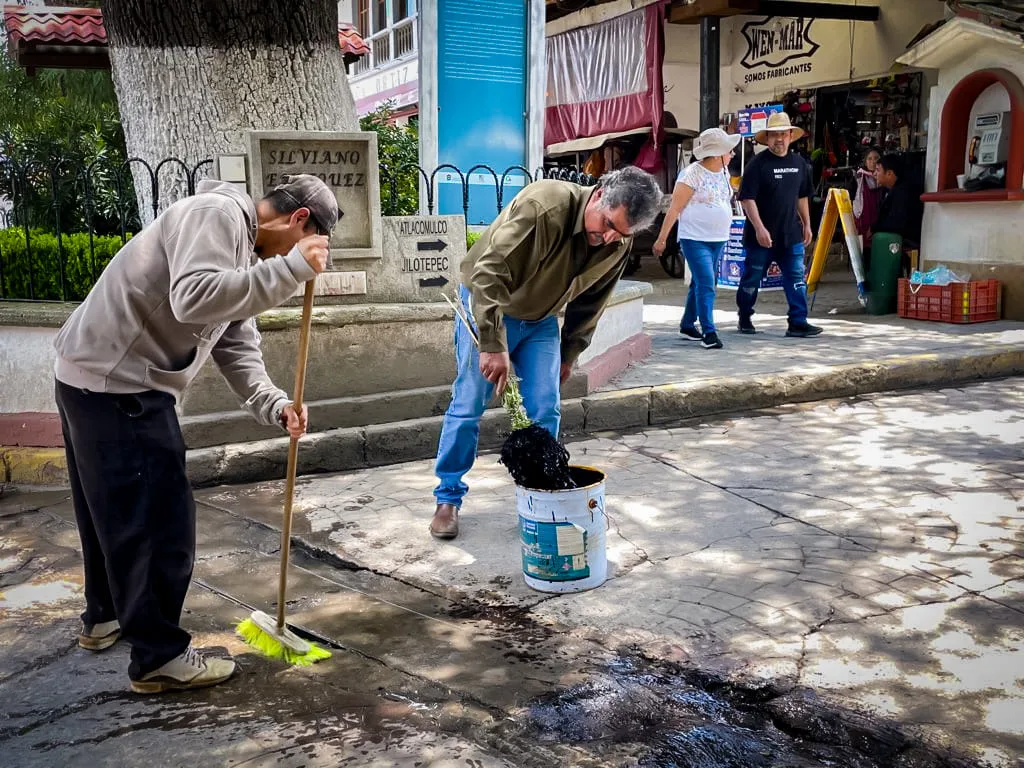
[[[782,288],[790,303],[786,336],[817,336],[821,329],[807,322],[807,283],[804,279],[804,249],[810,245],[811,168],[790,144],[804,135],[794,128],[784,113],[768,119],[768,127],[755,136],[768,150],[757,155],[739,187],[739,200],[746,214],[743,228],[743,274],[736,291],[739,333],[756,333],[751,317],[758,300],[758,288],[768,265],[774,261],[782,270]]]

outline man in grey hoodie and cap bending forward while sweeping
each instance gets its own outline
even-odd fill
[[[85,559],[79,645],[128,640],[137,693],[234,672],[193,648],[178,624],[196,505],[174,407],[212,356],[258,422],[305,432],[305,409],[266,374],[253,316],[326,268],[338,216],[314,176],[292,176],[259,203],[203,181],[118,252],[57,335],[55,394]]]

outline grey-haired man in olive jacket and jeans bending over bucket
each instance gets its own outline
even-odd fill
[[[459,535],[463,482],[476,458],[480,417],[512,367],[527,416],[558,436],[559,384],[590,345],[622,276],[633,233],[660,210],[654,177],[627,167],[596,187],[535,181],[480,236],[462,263],[460,295],[479,349],[456,318],[458,373],[437,446],[437,507],[430,532]],[[559,336],[558,312],[565,307]]]

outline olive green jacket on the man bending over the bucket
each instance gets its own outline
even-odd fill
[[[590,346],[632,244],[632,238],[587,244],[584,211],[593,193],[567,181],[536,181],[473,244],[462,282],[472,295],[481,351],[508,349],[506,314],[539,321],[562,307],[562,362],[574,362]]]

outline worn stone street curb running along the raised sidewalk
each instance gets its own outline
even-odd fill
[[[571,437],[662,426],[785,403],[928,386],[938,388],[1020,375],[1024,375],[1024,347],[1006,345],[966,353],[887,357],[808,373],[723,377],[595,392],[562,401],[562,432]],[[430,459],[437,446],[442,419],[435,416],[313,432],[302,440],[299,472],[341,472]],[[487,411],[480,429],[480,450],[499,447],[506,425],[501,409]],[[188,476],[197,487],[280,479],[285,475],[288,442],[287,437],[282,437],[189,451]],[[61,449],[0,446],[0,461],[8,482],[67,485],[68,470]]]

